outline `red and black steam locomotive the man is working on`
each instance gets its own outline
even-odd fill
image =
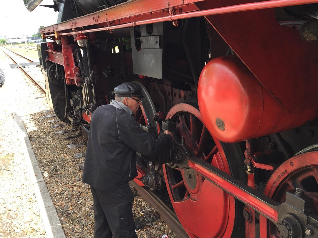
[[[54,0],[38,46],[50,106],[87,134],[134,81],[136,120],[175,132],[135,181],[166,186],[191,238],[318,237],[317,2]]]

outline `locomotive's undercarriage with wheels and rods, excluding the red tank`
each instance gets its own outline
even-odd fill
[[[151,191],[167,189],[191,238],[318,237],[318,123],[310,118],[236,143],[221,142],[204,123],[197,98],[202,69],[213,59],[244,61],[244,53],[218,34],[225,28],[215,31],[213,21],[217,28],[217,17],[198,17],[42,43],[50,106],[62,121],[83,130],[93,110],[113,99],[115,86],[136,81],[144,95],[136,120],[154,139],[169,129],[176,140],[168,156],[138,155],[135,182]],[[86,45],[78,46],[79,40]],[[217,129],[227,129],[228,122],[218,119]]]

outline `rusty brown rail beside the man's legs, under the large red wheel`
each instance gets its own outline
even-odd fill
[[[178,237],[190,238],[182,227],[176,214],[171,211],[171,209],[165,205],[160,198],[158,198],[153,192],[149,192],[145,188],[137,185],[134,180],[131,180],[129,184],[135,187],[138,194],[149,206],[151,206],[151,208],[156,208],[157,212],[160,214],[160,218],[168,224],[169,228],[171,228]]]

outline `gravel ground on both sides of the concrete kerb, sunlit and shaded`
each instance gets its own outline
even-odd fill
[[[3,52],[0,53],[0,62],[6,74],[5,84],[0,88],[3,105],[0,114],[0,176],[4,179],[0,188],[0,212],[5,214],[0,216],[0,224],[3,224],[0,237],[46,237],[21,144],[14,137],[19,129],[13,126],[13,112],[24,122],[65,236],[93,237],[93,198],[89,185],[81,181],[82,171],[79,169],[84,157],[74,156],[85,152],[85,137],[64,140],[65,136],[78,135],[78,131],[55,135],[54,132],[71,130],[73,126],[51,128],[61,122],[49,122],[57,118],[44,117],[53,114],[47,112],[50,108],[45,95],[19,69],[10,69],[11,61]],[[67,147],[75,143],[83,143],[84,146]],[[147,209],[149,207],[144,200],[135,197],[134,216],[143,215]],[[137,230],[140,238],[161,238],[164,234],[177,238],[162,220]]]

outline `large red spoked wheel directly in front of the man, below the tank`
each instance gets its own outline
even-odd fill
[[[221,143],[202,123],[199,110],[177,104],[166,119],[176,121],[176,141],[184,143],[197,157],[230,174]],[[235,223],[235,200],[222,189],[191,169],[163,167],[164,177],[175,212],[192,238],[231,237]]]

